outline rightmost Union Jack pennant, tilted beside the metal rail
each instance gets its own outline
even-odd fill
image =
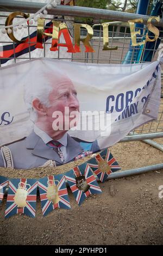
[[[102,164],[100,167],[101,161],[105,161],[105,166]],[[108,178],[110,173],[116,172],[117,170],[121,170],[121,167],[118,165],[117,161],[112,156],[109,149],[103,150],[100,154],[93,157],[93,159],[87,161],[87,163],[89,164],[89,166],[101,182],[104,182]],[[104,172],[105,169],[102,168],[107,169],[107,164],[110,168],[108,167],[108,170]]]

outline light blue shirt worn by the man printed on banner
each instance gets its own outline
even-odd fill
[[[50,141],[53,141],[53,138],[51,138],[45,131],[41,130],[39,127],[37,127],[36,125],[34,125],[34,132],[36,133],[36,135],[38,135],[42,141],[47,144]],[[62,147],[60,147],[60,150],[62,151],[65,160],[67,158],[67,133],[64,134],[63,137],[61,137],[60,139],[58,139],[58,142],[60,142],[62,144]]]

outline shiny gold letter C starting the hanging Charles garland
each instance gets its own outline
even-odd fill
[[[10,26],[10,25],[12,25],[12,21],[14,20],[14,18],[17,16],[17,15],[21,15],[21,16],[23,16],[25,19],[27,19],[28,17],[29,17],[29,14],[27,15],[27,14],[25,14],[25,13],[21,13],[21,11],[15,11],[15,13],[11,13],[8,17],[7,17],[7,19],[6,19],[6,21],[5,21],[5,26]],[[8,34],[8,36],[9,36],[9,38],[12,40],[12,41],[14,41],[14,42],[18,42],[18,43],[22,43],[22,42],[25,42],[26,41],[26,39],[24,39],[24,40],[17,40],[16,38],[15,38],[15,36],[14,36],[14,33],[13,33],[13,28],[11,27],[10,28],[11,29],[11,33],[10,34]]]

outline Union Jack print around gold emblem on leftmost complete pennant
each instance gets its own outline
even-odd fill
[[[27,190],[26,204],[23,208],[18,208],[15,203],[15,195],[18,187],[23,188],[24,184],[29,185]],[[7,206],[5,210],[5,218],[8,218],[15,214],[25,214],[30,217],[35,217],[36,212],[36,193],[37,193],[37,181],[35,179],[10,179],[9,190],[7,197]]]

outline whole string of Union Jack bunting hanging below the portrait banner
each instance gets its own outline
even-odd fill
[[[8,187],[5,218],[16,214],[35,217],[37,188],[40,192],[43,216],[55,209],[71,208],[66,185],[70,186],[78,205],[81,205],[90,194],[102,192],[97,178],[104,182],[110,173],[120,169],[110,150],[105,149],[91,160],[64,174],[50,175],[39,180],[8,179],[0,176],[0,204]]]

